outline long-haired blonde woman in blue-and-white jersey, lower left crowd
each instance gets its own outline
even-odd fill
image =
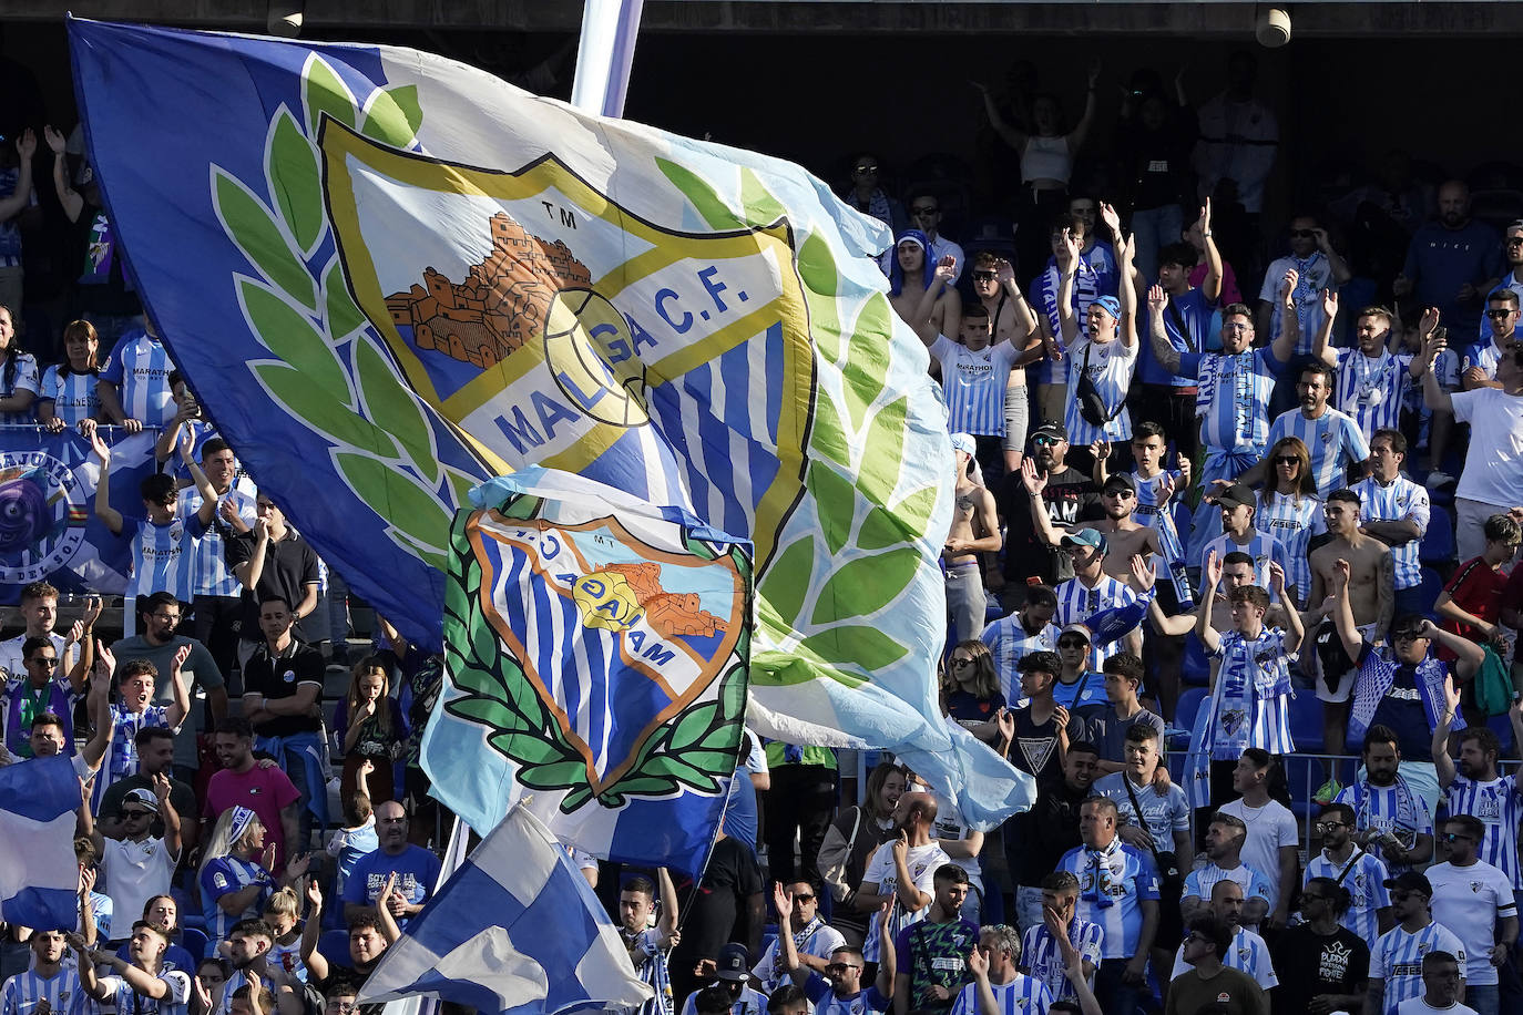
[[[276,845],[265,845],[265,823],[247,807],[222,811],[201,854],[196,877],[207,937],[224,940],[238,921],[257,919],[277,886],[302,880],[309,860],[306,855],[292,858],[277,883],[270,873]]]

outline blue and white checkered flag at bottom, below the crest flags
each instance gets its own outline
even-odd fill
[[[521,805],[387,948],[359,1000],[416,995],[483,1015],[570,1015],[652,997],[571,857]]]

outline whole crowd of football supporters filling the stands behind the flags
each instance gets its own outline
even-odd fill
[[[856,756],[748,738],[698,884],[577,857],[656,988],[641,1015],[1523,1006],[1499,768],[1523,741],[1523,221],[1392,152],[1276,230],[1250,56],[1199,108],[1139,75],[1106,145],[1100,79],[1071,129],[1019,73],[982,91],[1019,183],[966,248],[956,187],[900,195],[860,154],[844,192],[894,228],[891,304],[947,405],[944,714],[1036,803],[985,834],[889,758],[844,796]],[[440,663],[378,622],[329,708],[329,578],[200,418],[88,166],[41,140],[50,181],[32,131],[0,172],[0,412],[102,466],[96,423],[157,428],[161,472],[143,519],[97,487],[133,546],[125,636],[94,638],[99,603],[55,630],[37,583],[0,645],[6,758],[72,755],[82,787],[79,919],[6,930],[0,1015],[349,1015],[440,870]],[[12,313],[49,186],[85,265],[56,345]]]

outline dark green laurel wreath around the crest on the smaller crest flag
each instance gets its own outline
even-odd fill
[[[509,517],[532,517],[538,498],[522,496],[509,502]],[[713,700],[698,700],[640,746],[634,764],[623,776],[594,793],[588,761],[570,743],[544,698],[530,683],[522,665],[498,639],[483,615],[481,565],[471,546],[471,517],[460,514],[451,531],[449,578],[445,587],[445,654],[457,695],[445,711],[490,730],[486,743],[516,765],[515,779],[535,790],[567,790],[560,811],[570,814],[591,802],[606,808],[623,807],[629,797],[666,797],[684,788],[704,794],[723,791],[736,773],[746,709],[746,667],[730,665],[717,677]],[[690,552],[713,560],[711,545],[687,539]],[[731,560],[742,574],[749,560],[731,548]],[[749,628],[743,627],[734,659],[743,660],[749,648]]]

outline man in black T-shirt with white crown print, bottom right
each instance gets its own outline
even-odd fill
[[[1302,922],[1275,939],[1270,954],[1287,975],[1270,994],[1275,1015],[1351,1012],[1365,1000],[1369,945],[1339,924],[1348,890],[1333,878],[1310,878],[1301,890]]]

